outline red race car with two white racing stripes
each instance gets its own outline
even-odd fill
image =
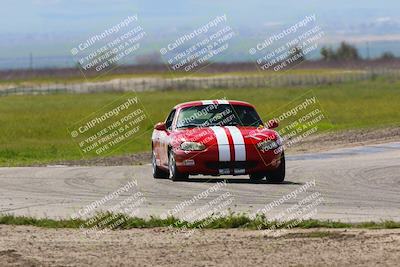
[[[274,120],[265,126],[254,106],[204,100],[175,106],[152,135],[154,178],[244,175],[275,183],[285,179],[285,156]]]

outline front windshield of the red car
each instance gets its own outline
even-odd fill
[[[254,126],[262,124],[254,108],[242,105],[210,104],[184,108],[179,112],[177,128],[209,126]]]

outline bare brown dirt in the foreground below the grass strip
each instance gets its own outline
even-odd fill
[[[400,229],[110,231],[0,225],[0,266],[398,266]]]

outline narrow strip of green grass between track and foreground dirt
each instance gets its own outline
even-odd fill
[[[187,229],[230,229],[244,228],[252,230],[264,229],[286,229],[289,225],[292,228],[310,229],[310,228],[363,228],[363,229],[395,229],[400,228],[400,222],[381,221],[381,222],[363,222],[363,223],[344,223],[337,221],[322,221],[322,220],[304,220],[297,224],[292,221],[278,223],[276,221],[268,221],[264,216],[256,216],[249,218],[245,214],[230,214],[223,217],[208,217],[200,221],[187,222],[181,221],[174,217],[161,219],[158,217],[150,217],[148,219],[138,217],[125,217],[122,214],[103,213],[97,214],[98,218],[106,218],[106,216],[115,216],[114,220],[110,220],[100,229],[109,227],[113,222],[124,218],[123,222],[113,229],[132,229],[132,228],[154,228],[154,227],[173,227]],[[31,225],[44,228],[91,228],[98,225],[100,220],[90,221],[91,219],[63,219],[54,220],[48,218],[32,218],[24,216],[0,215],[0,225]],[[90,223],[89,223],[90,222]],[[93,222],[97,222],[93,223]],[[316,234],[317,235],[317,234]],[[317,236],[315,236],[317,237]]]

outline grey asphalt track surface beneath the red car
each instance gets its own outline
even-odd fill
[[[136,187],[91,212],[114,207],[139,191],[145,201],[136,207],[136,215],[160,216],[168,210],[179,210],[175,215],[184,217],[229,192],[230,202],[223,210],[253,214],[315,180],[315,186],[296,197],[292,194],[292,198],[269,209],[267,216],[287,214],[288,208],[314,194],[323,200],[314,207],[312,218],[400,220],[400,142],[288,155],[286,165],[283,184],[251,183],[247,176],[194,176],[188,182],[156,180],[150,165],[0,168],[0,213],[67,218],[79,211],[83,214],[87,205],[104,199],[129,181],[137,181]],[[227,184],[219,186],[218,191],[207,191],[224,179]],[[177,208],[202,192],[209,195]]]

